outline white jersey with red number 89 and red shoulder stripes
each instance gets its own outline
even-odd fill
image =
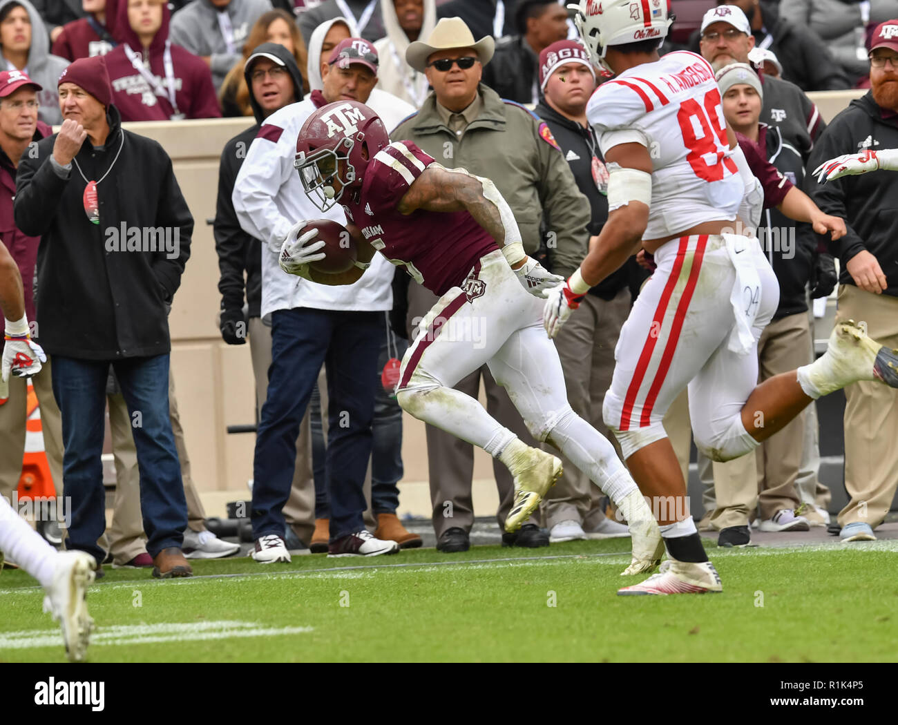
[[[744,184],[730,158],[718,84],[703,57],[677,51],[616,75],[594,92],[586,118],[603,154],[633,142],[648,149],[652,203],[646,239],[735,220]]]

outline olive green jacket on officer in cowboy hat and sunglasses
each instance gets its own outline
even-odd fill
[[[549,127],[483,83],[479,90],[480,114],[461,137],[445,126],[431,93],[390,138],[417,144],[447,169],[463,168],[491,179],[515,214],[527,254],[540,249],[542,225],[551,270],[568,277],[588,249],[589,202]]]

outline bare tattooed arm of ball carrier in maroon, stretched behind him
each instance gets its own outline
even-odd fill
[[[438,164],[431,164],[411,183],[397,208],[401,214],[411,214],[417,209],[428,212],[467,210],[474,221],[496,240],[499,249],[502,249],[508,241],[508,231],[512,231],[513,238],[516,237],[518,241],[520,233],[516,229],[516,223],[515,230],[506,229],[499,206],[485,196],[484,181],[464,170],[450,171]],[[510,210],[508,215],[511,216]],[[513,216],[511,219],[514,221]],[[524,261],[526,258],[515,267],[523,265]]]

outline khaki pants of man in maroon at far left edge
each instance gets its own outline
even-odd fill
[[[31,378],[40,405],[40,427],[44,434],[44,450],[57,496],[62,495],[62,418],[53,397],[52,362],[47,362]],[[25,413],[28,381],[14,375],[9,379],[9,399],[0,406],[0,496],[12,500],[13,491],[22,476],[25,451]]]

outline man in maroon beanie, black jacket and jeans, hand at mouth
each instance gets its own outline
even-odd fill
[[[97,539],[106,528],[102,417],[111,365],[140,423],[133,433],[154,576],[189,576],[166,305],[189,258],[193,218],[162,146],[121,128],[104,59],[76,60],[58,83],[66,119],[22,158],[13,208],[19,229],[41,235],[38,324],[54,355],[62,414],[64,494],[73,510],[66,548],[98,564],[105,556]],[[145,230],[163,230],[165,244]]]

